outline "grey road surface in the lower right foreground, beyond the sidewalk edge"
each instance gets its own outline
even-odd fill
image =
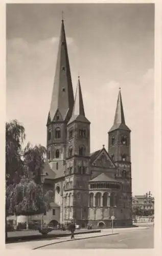
[[[40,249],[135,249],[153,248],[154,228],[121,230],[113,236],[87,238],[48,245]]]

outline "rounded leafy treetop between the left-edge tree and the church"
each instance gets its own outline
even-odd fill
[[[28,166],[36,184],[41,184],[46,153],[46,148],[40,144],[33,147],[28,143],[24,150],[24,163]]]

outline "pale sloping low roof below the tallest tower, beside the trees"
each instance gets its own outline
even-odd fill
[[[53,166],[52,162],[45,162],[44,163],[44,169],[43,169],[43,173],[47,173],[47,176],[45,177],[45,179],[49,179],[49,180],[53,180],[53,179],[58,179],[64,176],[64,169],[62,167],[62,169],[59,168],[59,170],[55,169]]]

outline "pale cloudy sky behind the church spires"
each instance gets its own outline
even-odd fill
[[[133,195],[154,193],[153,4],[8,4],[6,121],[24,125],[25,145],[46,146],[62,11],[74,93],[79,75],[91,122],[91,152],[107,149],[121,87]]]

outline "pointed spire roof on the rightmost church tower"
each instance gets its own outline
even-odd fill
[[[128,126],[125,124],[121,88],[119,88],[119,95],[117,101],[117,108],[115,111],[114,122],[109,132],[117,129],[130,131]]]

